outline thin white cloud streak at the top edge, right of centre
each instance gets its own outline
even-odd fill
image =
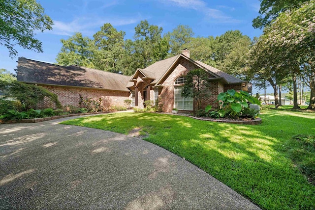
[[[164,3],[175,4],[179,7],[194,9],[205,14],[206,18],[215,19],[220,23],[238,23],[240,20],[233,19],[225,15],[221,10],[213,9],[207,6],[202,0],[159,0]],[[222,5],[221,5],[222,7]]]

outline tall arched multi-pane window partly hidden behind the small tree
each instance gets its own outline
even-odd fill
[[[179,110],[193,110],[193,98],[182,97],[183,86],[187,81],[185,76],[181,76],[174,81],[174,108]]]

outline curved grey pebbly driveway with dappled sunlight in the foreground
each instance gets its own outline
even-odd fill
[[[1,210],[259,209],[140,138],[58,124],[71,118],[0,125]]]

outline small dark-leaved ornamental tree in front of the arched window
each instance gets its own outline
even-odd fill
[[[191,97],[197,102],[197,110],[201,108],[202,97],[210,96],[210,82],[207,73],[203,69],[189,71],[186,76],[182,96]]]

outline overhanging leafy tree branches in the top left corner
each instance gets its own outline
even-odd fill
[[[14,46],[42,53],[41,42],[34,38],[36,31],[51,30],[53,21],[36,0],[0,0],[0,44],[13,58]]]

